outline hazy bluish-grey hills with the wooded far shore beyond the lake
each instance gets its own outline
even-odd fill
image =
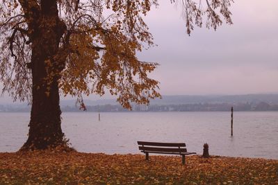
[[[84,100],[91,111],[125,111],[115,99]],[[79,111],[76,100],[60,100],[63,111]],[[181,105],[181,106],[179,106]],[[245,94],[231,96],[163,96],[150,101],[149,111],[224,111],[231,106],[238,110],[278,110],[278,94]],[[144,106],[133,105],[133,109],[142,110]],[[0,112],[30,112],[31,106],[26,103],[0,105]]]

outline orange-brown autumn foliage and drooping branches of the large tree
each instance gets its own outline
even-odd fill
[[[231,1],[206,0],[204,7],[202,1],[179,1],[187,33],[191,33],[194,24],[202,26],[205,15],[208,28],[216,29],[222,24],[220,15],[231,24],[228,9]],[[160,97],[158,81],[148,77],[158,64],[140,61],[136,57],[136,52],[154,44],[143,17],[153,6],[158,6],[157,0],[49,2],[56,4],[58,20],[47,19],[47,12],[44,12],[46,0],[0,2],[3,91],[15,100],[31,100],[33,38],[40,35],[36,28],[58,26],[58,50],[44,61],[48,75],[44,79],[46,85],[58,78],[60,94],[78,96],[79,100],[82,100],[82,94],[103,95],[107,90],[127,108],[131,107],[131,102],[149,103],[149,98]]]

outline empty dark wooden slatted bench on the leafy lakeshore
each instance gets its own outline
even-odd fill
[[[182,164],[186,164],[186,155],[193,155],[196,152],[187,152],[186,143],[154,143],[147,141],[137,141],[139,150],[146,154],[146,160],[149,160],[149,153],[181,155]]]

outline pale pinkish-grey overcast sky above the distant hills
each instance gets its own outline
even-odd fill
[[[138,57],[161,64],[151,75],[161,94],[278,93],[277,0],[235,0],[233,25],[196,27],[190,37],[179,6],[159,3],[145,19],[158,46]]]

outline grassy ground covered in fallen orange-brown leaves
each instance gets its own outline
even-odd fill
[[[0,184],[278,184],[278,160],[0,153]]]

